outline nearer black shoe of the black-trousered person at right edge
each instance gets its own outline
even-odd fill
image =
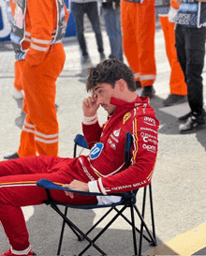
[[[190,133],[197,131],[199,129],[206,128],[206,120],[203,115],[191,114],[186,123],[180,125],[180,133]]]

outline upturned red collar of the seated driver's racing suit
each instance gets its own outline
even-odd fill
[[[140,97],[139,95],[137,95],[137,98],[132,102],[127,102],[123,99],[114,98],[114,97],[110,98],[110,104],[118,106],[118,107],[124,107],[124,108],[125,107],[128,107],[128,108],[137,107],[143,103],[148,103],[148,102],[149,102],[148,97]]]

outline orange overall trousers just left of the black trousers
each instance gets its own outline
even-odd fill
[[[173,8],[178,8],[178,4],[174,1],[171,1],[170,5]],[[169,79],[170,94],[185,96],[187,95],[187,88],[184,82],[184,73],[177,60],[175,48],[175,23],[169,22],[168,15],[161,16],[161,14],[159,14],[159,22],[164,33],[166,53],[171,68]]]

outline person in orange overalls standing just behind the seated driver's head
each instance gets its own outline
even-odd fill
[[[152,98],[155,67],[155,0],[121,1],[124,53],[133,69],[136,84],[143,87],[141,96]]]

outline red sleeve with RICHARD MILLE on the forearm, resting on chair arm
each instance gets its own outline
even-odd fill
[[[145,116],[134,120],[131,166],[121,173],[97,180],[97,187],[103,193],[124,192],[145,187],[151,182],[157,155],[158,121]],[[150,118],[150,117],[149,117]]]

